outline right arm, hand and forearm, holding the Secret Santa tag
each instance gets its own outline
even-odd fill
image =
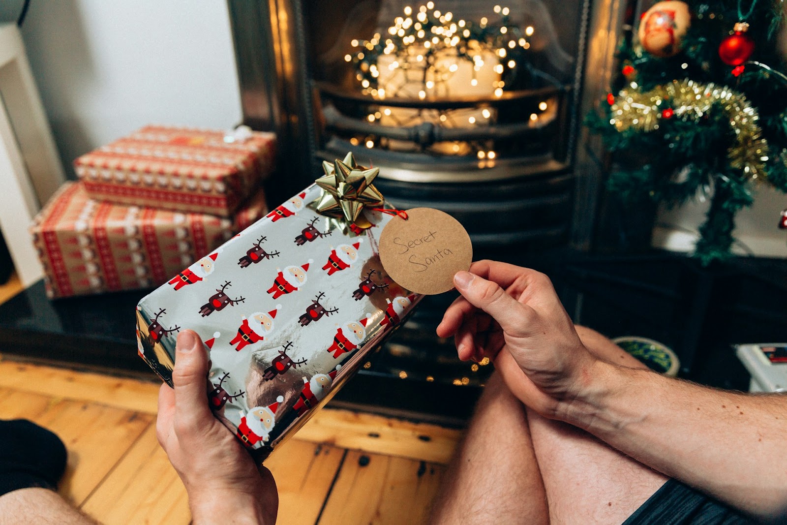
[[[785,394],[711,390],[600,360],[545,275],[493,261],[470,270],[454,276],[463,297],[438,326],[456,338],[460,358],[494,359],[530,408],[656,471],[752,515],[783,516]]]

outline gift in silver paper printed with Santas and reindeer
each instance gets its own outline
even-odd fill
[[[336,166],[364,172],[350,157]],[[330,179],[334,168],[326,169]],[[295,195],[139,302],[140,356],[172,384],[176,331],[197,331],[210,353],[212,409],[266,457],[422,297],[380,264],[377,240],[392,216],[378,202],[346,220],[342,208],[352,214],[358,205],[316,184]]]

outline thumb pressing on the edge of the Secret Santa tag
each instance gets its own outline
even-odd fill
[[[490,314],[509,333],[519,331],[532,309],[505,293],[499,284],[470,272],[456,272],[456,290],[471,305]]]

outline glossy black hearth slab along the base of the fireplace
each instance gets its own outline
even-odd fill
[[[671,346],[680,375],[700,383],[748,389],[733,343],[784,338],[787,263],[741,257],[701,268],[674,253],[604,256],[544,250],[527,264],[548,272],[575,322],[615,337],[641,335]],[[26,360],[68,363],[157,380],[137,356],[133,312],[143,293],[50,301],[39,281],[0,305],[0,349]],[[491,366],[456,360],[453,341],[434,336],[453,295],[432,298],[408,329],[370,357],[334,406],[461,425]],[[405,372],[404,374],[402,372]]]

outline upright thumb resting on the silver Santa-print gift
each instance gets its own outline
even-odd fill
[[[197,425],[212,419],[208,408],[208,354],[199,335],[191,330],[179,333],[175,347],[175,417],[181,423]],[[176,427],[177,429],[177,427]]]

